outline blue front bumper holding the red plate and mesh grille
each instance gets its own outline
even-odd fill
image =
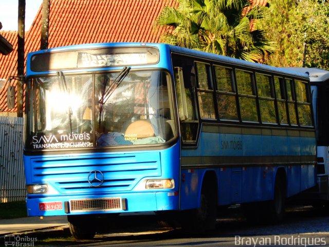
[[[81,206],[77,207],[77,203],[81,203]],[[75,206],[72,207],[72,204]],[[28,216],[136,213],[178,210],[179,196],[177,191],[161,191],[115,195],[27,197],[26,205]]]

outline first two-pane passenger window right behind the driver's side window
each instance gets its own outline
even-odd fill
[[[198,82],[197,96],[201,118],[215,119],[215,105],[213,98],[213,86],[209,64],[195,63],[196,78]]]

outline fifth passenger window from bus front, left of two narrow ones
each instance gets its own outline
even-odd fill
[[[284,84],[283,78],[274,77],[274,86],[277,96],[277,106],[278,106],[278,114],[279,114],[279,123],[280,125],[287,125],[287,108],[284,94]]]

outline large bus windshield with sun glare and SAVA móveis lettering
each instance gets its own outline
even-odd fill
[[[174,137],[169,74],[160,70],[34,77],[26,95],[25,148],[165,143]]]

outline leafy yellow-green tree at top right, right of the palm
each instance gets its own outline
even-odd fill
[[[267,62],[274,66],[302,66],[304,43],[306,67],[329,69],[329,5],[317,0],[268,0],[270,7],[258,28],[277,50]]]

